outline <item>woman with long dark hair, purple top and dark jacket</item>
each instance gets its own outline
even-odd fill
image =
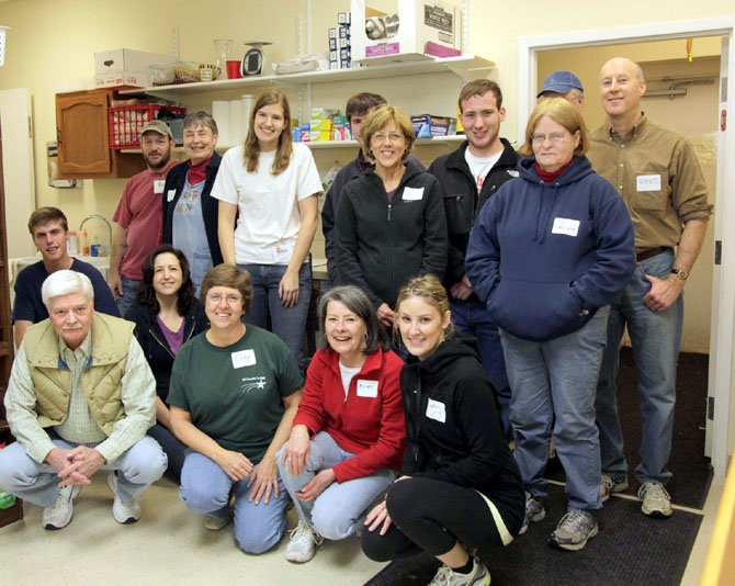
[[[156,248],[143,263],[137,301],[125,313],[156,377],[156,425],[148,430],[169,459],[168,475],[179,483],[184,446],[173,436],[166,397],[173,359],[181,346],[210,327],[194,297],[189,261],[171,245]]]

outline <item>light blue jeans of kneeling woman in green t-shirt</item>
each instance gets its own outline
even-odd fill
[[[249,502],[248,478],[233,481],[216,462],[194,450],[185,450],[181,470],[181,500],[194,512],[223,517],[234,499],[235,540],[248,553],[263,553],[278,545],[286,529],[289,493],[279,478],[279,496],[268,504]]]

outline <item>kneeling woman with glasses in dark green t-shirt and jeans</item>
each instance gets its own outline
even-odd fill
[[[210,329],[179,350],[168,396],[173,431],[188,447],[181,500],[218,530],[230,520],[231,497],[235,539],[262,553],[286,526],[275,453],[289,439],[303,380],[275,335],[241,322],[252,301],[247,271],[215,267],[201,300]]]

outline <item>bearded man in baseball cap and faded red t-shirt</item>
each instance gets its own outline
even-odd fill
[[[171,128],[161,120],[151,120],[140,129],[140,148],[147,169],[131,177],[113,221],[112,255],[108,284],[124,316],[135,302],[143,280],[143,261],[158,245],[161,221],[161,193],[173,147]]]

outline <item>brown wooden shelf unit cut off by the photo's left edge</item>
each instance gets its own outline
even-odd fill
[[[1,123],[2,121],[0,121]],[[13,364],[13,330],[10,323],[10,280],[8,279],[8,230],[5,229],[5,196],[2,176],[2,127],[0,126],[0,443],[12,441],[5,420],[5,388]],[[23,503],[0,509],[0,527],[23,518]]]

